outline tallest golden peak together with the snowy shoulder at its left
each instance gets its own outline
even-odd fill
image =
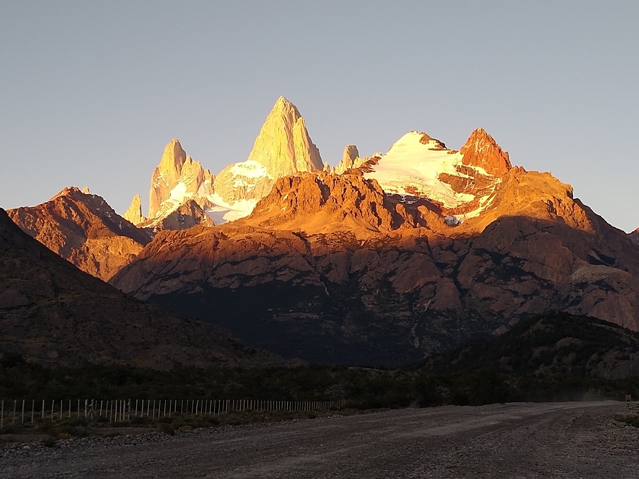
[[[308,136],[300,111],[283,96],[266,117],[249,158],[216,176],[215,202],[249,214],[277,178],[324,169],[320,150]],[[234,218],[233,218],[234,219]]]

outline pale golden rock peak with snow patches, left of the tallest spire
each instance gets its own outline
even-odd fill
[[[215,177],[200,162],[193,161],[176,139],[165,147],[160,164],[151,177],[149,192],[149,217],[142,226],[158,229],[166,217],[175,213],[183,204],[193,200],[200,209],[212,206]],[[189,224],[196,220],[193,217]],[[167,222],[175,224],[175,222]]]

